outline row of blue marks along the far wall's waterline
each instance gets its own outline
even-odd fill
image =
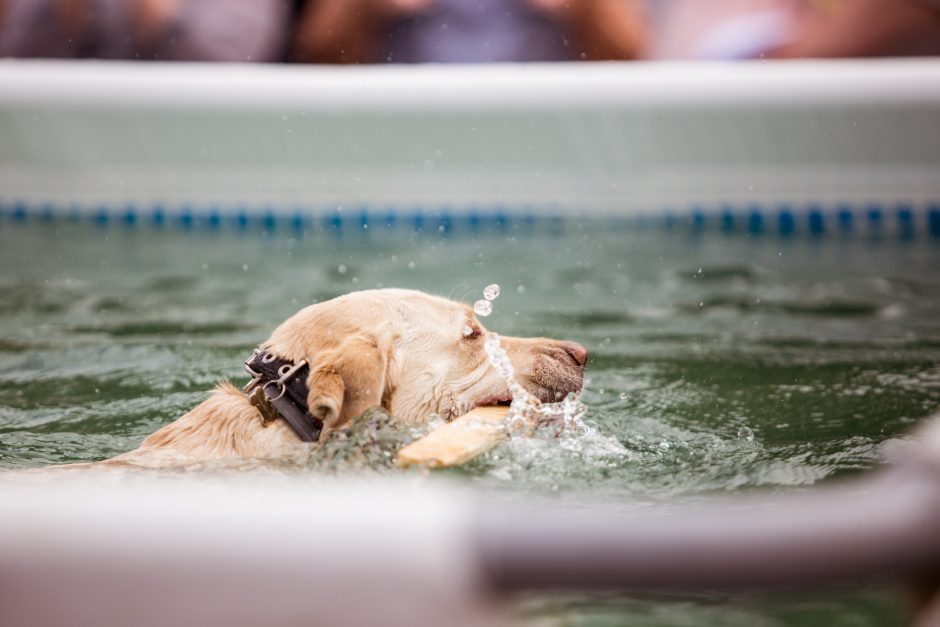
[[[695,205],[618,215],[564,212],[534,206],[357,207],[313,210],[275,207],[176,207],[134,205],[60,207],[51,203],[0,201],[0,228],[25,223],[87,223],[101,228],[179,229],[183,231],[248,231],[334,235],[354,232],[403,231],[416,234],[477,234],[547,231],[561,233],[571,226],[600,224],[615,230],[661,229],[672,233],[708,232],[746,237],[897,237],[940,240],[940,201],[910,203],[846,203],[744,206]]]

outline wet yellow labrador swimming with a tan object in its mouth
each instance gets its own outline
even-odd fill
[[[246,363],[254,377],[249,393],[223,383],[140,448],[103,463],[276,458],[375,406],[420,423],[507,402],[509,387],[487,359],[485,334],[466,304],[416,291],[368,290],[312,305]],[[587,351],[580,344],[513,337],[501,344],[519,383],[540,400],[581,389]]]

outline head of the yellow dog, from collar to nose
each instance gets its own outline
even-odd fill
[[[395,417],[451,419],[511,400],[484,350],[473,310],[422,292],[353,292],[307,307],[275,329],[265,350],[310,364],[310,412],[327,428],[381,405]],[[587,350],[575,342],[500,337],[516,380],[544,402],[581,389]]]

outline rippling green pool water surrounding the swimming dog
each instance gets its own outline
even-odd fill
[[[520,438],[447,473],[500,494],[800,491],[873,467],[940,408],[936,242],[590,224],[561,237],[291,238],[3,223],[0,268],[2,468],[129,450],[219,379],[243,382],[251,348],[300,307],[382,286],[472,301],[499,283],[489,328],[591,351],[582,440]],[[574,625],[904,622],[885,587],[522,605]]]

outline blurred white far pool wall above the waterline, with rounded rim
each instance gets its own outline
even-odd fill
[[[940,62],[0,61],[33,213],[940,207]]]

